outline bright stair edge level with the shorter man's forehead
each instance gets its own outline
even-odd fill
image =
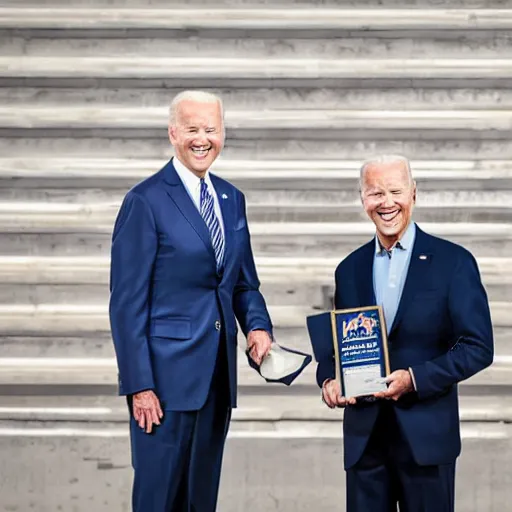
[[[141,158],[3,157],[0,158],[0,179],[60,178],[69,180],[70,184],[73,179],[87,178],[93,182],[124,178],[142,180],[165,164],[165,160]],[[227,180],[286,180],[288,188],[293,187],[293,182],[305,178],[320,184],[337,180],[356,185],[361,164],[362,160],[231,160],[221,157],[213,164],[212,171]],[[430,180],[461,180],[463,185],[473,180],[512,178],[511,160],[411,160],[411,167],[414,178],[426,183]],[[101,184],[103,186],[103,182]]]

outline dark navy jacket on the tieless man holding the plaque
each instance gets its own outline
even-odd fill
[[[335,274],[336,309],[376,303],[374,254],[372,240],[340,263]],[[417,227],[388,343],[391,371],[411,367],[416,379],[417,392],[403,396],[395,406],[416,462],[453,462],[461,449],[457,383],[489,366],[493,359],[489,304],[471,253]],[[320,386],[334,375],[332,359],[319,361]],[[379,407],[379,402],[374,402],[346,408],[346,468],[361,457]]]

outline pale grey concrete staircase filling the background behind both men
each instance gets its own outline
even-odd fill
[[[128,188],[171,156],[167,105],[185,87],[225,99],[216,171],[247,195],[277,338],[298,348],[337,263],[372,236],[360,162],[412,159],[416,220],[477,256],[495,326],[495,365],[461,385],[459,510],[507,508],[512,1],[0,4],[2,510],[129,509],[110,233]],[[221,509],[340,509],[341,413],[314,368],[268,386],[240,355]]]

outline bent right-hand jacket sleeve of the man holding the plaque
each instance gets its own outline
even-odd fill
[[[494,342],[487,294],[471,254],[461,253],[449,291],[455,343],[442,356],[413,366],[418,397],[427,399],[492,363]]]

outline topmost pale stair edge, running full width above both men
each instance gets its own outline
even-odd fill
[[[507,30],[510,9],[2,8],[0,27],[13,29],[165,30]],[[58,37],[58,33],[53,35]],[[229,32],[225,33],[229,37]]]

